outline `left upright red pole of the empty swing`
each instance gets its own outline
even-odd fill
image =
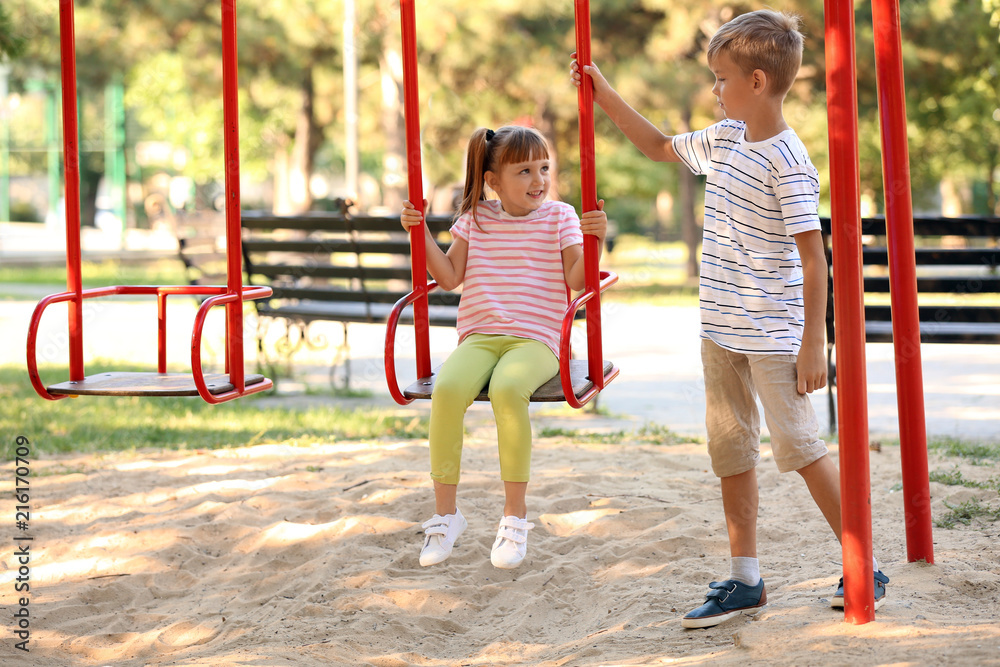
[[[80,130],[76,108],[76,36],[73,0],[59,2],[62,59],[63,165],[66,202],[66,291],[69,312],[69,379],[83,380],[83,278],[80,272]]]

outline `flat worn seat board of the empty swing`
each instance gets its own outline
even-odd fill
[[[263,375],[250,374],[243,382],[250,387],[265,379]],[[205,384],[213,396],[236,389],[225,373],[205,375]],[[56,396],[198,396],[194,377],[189,373],[98,373],[80,381],[53,384],[47,389]]]

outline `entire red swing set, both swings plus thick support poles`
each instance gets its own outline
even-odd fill
[[[404,40],[404,87],[407,130],[407,164],[410,200],[423,202],[420,170],[419,120],[417,115],[417,69],[414,0],[401,0]],[[581,63],[590,62],[590,17],[586,0],[577,0],[577,53]],[[62,53],[64,162],[66,178],[66,266],[67,291],[42,299],[32,316],[27,344],[28,372],[38,394],[49,400],[79,394],[199,395],[210,403],[231,400],[271,387],[270,380],[244,373],[243,302],[269,296],[270,288],[245,287],[240,266],[239,124],[237,116],[236,23],[234,0],[221,0],[223,32],[223,102],[226,153],[226,286],[115,286],[82,288],[80,272],[79,145],[76,110],[76,62],[73,1],[60,2]],[[865,334],[862,302],[860,245],[860,195],[857,138],[857,77],[855,64],[854,8],[851,3],[825,0],[827,92],[833,203],[833,263],[838,323],[837,359],[839,385],[840,461],[843,515],[845,618],[854,623],[874,619],[872,581],[871,491],[868,461],[868,415],[865,376]],[[903,97],[900,16],[898,0],[873,0],[876,66],[878,69],[879,116],[882,126],[887,227],[892,282],[893,340],[896,348],[897,395],[903,458],[903,494],[906,512],[907,558],[933,562],[930,524],[930,492],[923,409],[923,379],[920,360],[919,318],[913,252],[906,118]],[[596,208],[593,167],[592,90],[581,86],[580,143],[584,210]],[[416,397],[397,386],[394,364],[395,331],[399,314],[413,306],[417,353],[417,385],[431,382],[427,325],[427,283],[423,234],[411,234],[413,291],[397,302],[386,330],[385,368],[390,393],[401,403]],[[587,237],[586,288],[569,304],[563,322],[560,387],[563,398],[574,407],[589,401],[618,373],[605,363],[601,350],[600,293],[617,279],[598,269],[597,241]],[[83,364],[83,301],[116,294],[155,295],[159,306],[159,357],[157,373],[104,374],[85,377]],[[166,373],[166,299],[174,294],[206,295],[195,319],[191,340],[190,376]],[[67,303],[70,379],[46,387],[38,374],[36,343],[41,317],[48,306]],[[201,367],[201,338],[211,308],[226,307],[226,374],[205,376]],[[569,329],[580,307],[587,309],[589,388],[573,387],[569,354]],[[581,393],[582,391],[582,393]],[[562,400],[562,399],[560,399]]]

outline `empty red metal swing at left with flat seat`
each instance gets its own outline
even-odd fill
[[[63,160],[66,179],[66,291],[52,294],[35,307],[28,328],[28,375],[39,396],[58,400],[67,396],[201,396],[208,403],[222,403],[273,386],[262,375],[244,373],[243,302],[271,295],[270,287],[244,286],[240,240],[239,112],[236,78],[236,6],[221,0],[222,78],[226,159],[226,275],[225,286],[117,285],[83,289],[80,270],[80,155],[76,108],[76,48],[74,2],[59,3],[59,41],[62,59]],[[156,373],[84,374],[83,301],[119,294],[156,296],[158,348]],[[208,298],[195,316],[191,335],[191,374],[167,373],[167,297],[197,294]],[[69,311],[69,380],[48,387],[38,373],[38,327],[45,310],[66,303]],[[226,308],[225,373],[206,375],[201,363],[205,319],[215,306]]]

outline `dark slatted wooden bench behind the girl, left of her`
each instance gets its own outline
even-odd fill
[[[264,337],[275,320],[285,324],[278,348],[289,360],[302,345],[317,347],[309,337],[311,323],[340,322],[344,337],[331,378],[342,365],[343,385],[349,387],[348,324],[384,324],[393,304],[412,287],[409,238],[399,217],[353,215],[346,210],[294,216],[244,211],[242,223],[247,282],[274,291],[270,299],[254,301],[263,360],[271,363]],[[451,216],[427,217],[436,236],[451,223]],[[447,248],[446,243],[439,245]],[[450,292],[431,293],[431,326],[455,326],[459,299],[459,294]],[[412,315],[403,321],[412,322]]]

